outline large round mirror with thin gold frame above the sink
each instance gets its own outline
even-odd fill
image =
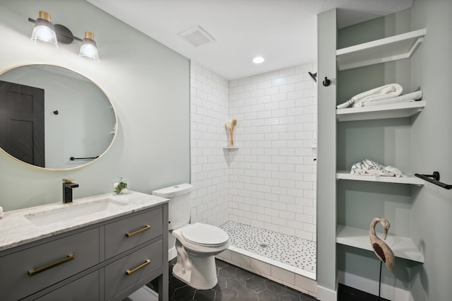
[[[33,166],[67,170],[111,146],[117,115],[105,93],[60,66],[32,64],[0,73],[0,148]]]

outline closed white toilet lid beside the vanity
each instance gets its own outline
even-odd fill
[[[194,223],[182,230],[184,238],[192,244],[206,247],[218,247],[229,240],[229,235],[213,225]]]

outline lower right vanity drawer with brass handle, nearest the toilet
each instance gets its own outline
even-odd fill
[[[162,240],[105,267],[105,299],[109,300],[137,281],[162,269]]]

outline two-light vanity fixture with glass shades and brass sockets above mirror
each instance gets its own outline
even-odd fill
[[[94,40],[94,34],[90,31],[85,32],[83,40],[72,34],[71,30],[64,25],[55,24],[50,22],[50,14],[45,11],[40,11],[40,18],[33,20],[28,18],[28,21],[35,23],[35,28],[31,35],[31,40],[36,42],[40,40],[42,42],[49,42],[58,47],[58,43],[71,44],[73,40],[82,42],[80,47],[79,56],[87,57],[93,61],[99,61],[99,51]]]

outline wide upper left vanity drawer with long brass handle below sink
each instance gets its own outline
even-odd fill
[[[99,241],[95,228],[0,257],[1,300],[19,300],[98,264]]]

